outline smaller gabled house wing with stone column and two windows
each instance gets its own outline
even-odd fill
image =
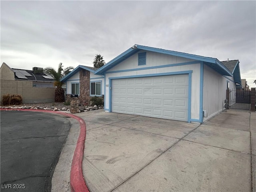
[[[104,96],[104,76],[95,75],[98,68],[79,65],[61,79],[66,82],[66,99],[79,96],[80,102],[90,102],[92,96]]]

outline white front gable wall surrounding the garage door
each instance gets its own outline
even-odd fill
[[[144,52],[144,51],[141,51]],[[180,65],[180,66],[166,66],[162,68],[150,68],[144,70],[134,70],[125,72],[115,72],[120,70],[130,70],[147,68],[154,66],[164,66],[169,64],[178,64],[184,62],[192,62],[195,60],[190,60],[187,58],[181,58],[176,56],[170,56],[166,54],[160,54],[155,52],[148,52],[146,54],[146,65],[138,66],[138,53],[124,60],[120,64],[114,66],[106,73],[106,93],[105,93],[105,109],[109,109],[109,78],[110,77],[126,77],[126,76],[136,76],[136,75],[146,75],[146,74],[159,74],[167,72],[180,72],[192,70],[192,80],[191,80],[191,118],[199,120],[199,106],[200,106],[200,62],[196,64]]]

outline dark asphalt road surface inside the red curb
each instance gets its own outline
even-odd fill
[[[51,191],[70,121],[51,113],[1,111],[0,122],[0,191]]]

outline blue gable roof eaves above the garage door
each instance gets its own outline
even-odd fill
[[[153,47],[136,45],[136,44],[131,48],[129,48],[128,50],[126,50],[125,52],[123,52],[122,54],[120,54],[119,56],[117,56],[116,58],[112,59],[110,62],[106,63],[104,66],[102,66],[98,70],[96,70],[94,74],[103,75],[107,70],[116,66],[117,64],[124,61],[125,59],[132,56],[133,54],[136,54],[140,50],[158,52],[162,54],[168,54],[168,55],[203,61],[205,62],[206,65],[210,66],[211,68],[216,70],[218,73],[226,76],[232,76],[232,73],[228,70],[228,68],[226,68],[226,66],[224,66],[217,58],[204,57],[204,56],[199,56],[194,54],[164,50],[160,48],[153,48]]]

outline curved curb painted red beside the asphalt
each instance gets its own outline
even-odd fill
[[[56,114],[61,114],[63,116],[75,118],[80,124],[80,135],[76,143],[76,149],[74,152],[71,171],[70,171],[71,191],[72,192],[90,192],[85,183],[83,170],[82,170],[82,161],[84,158],[84,141],[86,136],[86,124],[82,118],[69,113],[64,113],[59,111],[39,110],[39,109],[34,110],[34,109],[3,109],[1,108],[0,110],[1,111],[16,110],[16,111],[32,111],[32,112],[50,112],[50,113],[56,113]]]

